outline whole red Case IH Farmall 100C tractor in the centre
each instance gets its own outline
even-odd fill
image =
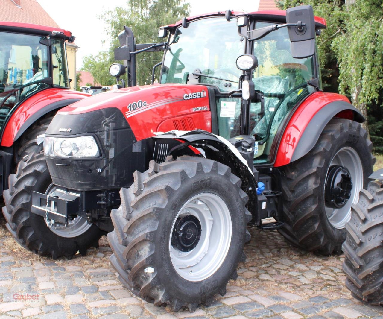
[[[159,29],[159,44],[136,45],[125,27],[115,58],[126,64],[110,72],[120,80],[127,69],[133,87],[60,110],[45,158],[15,177],[14,198],[24,174],[41,168],[25,206],[41,233],[29,248],[71,257],[109,232],[121,282],[175,311],[225,294],[246,259],[248,224],[339,254],[375,159],[360,112],[322,92],[315,38],[324,28],[310,6],[184,18]],[[160,84],[134,87],[135,54],[158,49]],[[357,276],[355,294],[379,303],[371,278]]]

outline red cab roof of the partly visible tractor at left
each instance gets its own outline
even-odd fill
[[[61,28],[9,21],[0,21],[0,31],[30,33],[40,36],[47,36],[52,34],[53,31],[56,31],[64,34],[66,40],[69,40],[72,37],[72,32]]]

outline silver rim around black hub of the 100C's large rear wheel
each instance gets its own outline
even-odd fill
[[[347,167],[352,181],[351,196],[342,208],[336,209],[325,205],[326,216],[331,225],[337,229],[343,229],[351,218],[351,205],[358,203],[359,191],[363,188],[362,162],[357,151],[352,147],[347,146],[343,147],[337,154],[335,154],[329,167],[332,165]]]

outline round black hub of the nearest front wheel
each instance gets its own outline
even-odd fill
[[[182,252],[193,250],[201,239],[201,223],[193,215],[178,217],[172,234],[172,246]]]

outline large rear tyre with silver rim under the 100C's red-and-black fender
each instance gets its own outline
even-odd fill
[[[346,238],[350,206],[368,184],[375,158],[372,143],[360,124],[334,118],[324,128],[311,151],[282,167],[283,221],[279,232],[295,247],[323,255],[340,254]],[[326,177],[333,165],[345,166],[354,175],[351,197],[336,211],[325,204]],[[354,173],[352,173],[354,172]],[[330,211],[330,213],[329,213]],[[342,213],[335,220],[329,216]]]

